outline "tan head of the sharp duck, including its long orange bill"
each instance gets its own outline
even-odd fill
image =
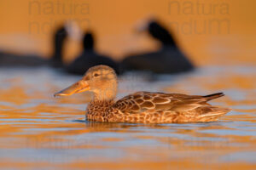
[[[108,101],[115,98],[117,88],[117,76],[113,69],[107,65],[96,65],[86,71],[79,82],[55,93],[54,96],[67,96],[90,91],[94,94],[94,100]]]

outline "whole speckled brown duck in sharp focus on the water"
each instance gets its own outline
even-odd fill
[[[223,93],[201,95],[137,92],[115,100],[117,75],[108,65],[96,65],[73,85],[55,93],[68,96],[90,91],[93,98],[87,105],[85,117],[89,122],[127,123],[185,123],[214,122],[230,109],[207,102]]]

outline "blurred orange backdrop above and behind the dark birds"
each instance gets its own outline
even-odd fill
[[[256,17],[253,0],[9,0],[0,2],[0,49],[17,54],[51,53],[51,36],[65,20],[96,32],[96,48],[122,59],[132,51],[157,48],[150,37],[134,32],[137,22],[157,17],[172,30],[196,65],[256,63]],[[68,41],[65,60],[80,51]]]

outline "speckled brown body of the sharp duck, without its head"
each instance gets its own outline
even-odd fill
[[[212,94],[210,99],[223,96]],[[108,102],[93,101],[86,118],[93,122],[212,122],[229,109],[207,104],[207,96],[137,92]]]

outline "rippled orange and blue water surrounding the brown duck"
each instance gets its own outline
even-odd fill
[[[187,75],[119,80],[119,96],[139,90],[226,96],[218,122],[127,124],[84,121],[90,94],[53,94],[80,77],[49,68],[0,69],[3,169],[255,169],[256,68],[212,66]]]

